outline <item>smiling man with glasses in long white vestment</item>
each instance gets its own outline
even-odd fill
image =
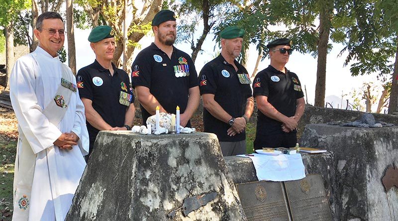
[[[36,22],[36,50],[19,58],[10,98],[19,139],[13,188],[14,221],[63,221],[86,166],[89,137],[71,69],[57,55],[65,39],[60,14]]]

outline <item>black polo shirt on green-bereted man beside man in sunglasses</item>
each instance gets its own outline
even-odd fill
[[[200,71],[200,95],[213,94],[222,109],[233,117],[241,117],[245,113],[247,98],[252,96],[250,78],[247,70],[234,61],[238,71],[226,62],[220,54],[214,60],[205,64]],[[203,109],[204,132],[215,133],[219,141],[234,142],[246,139],[245,131],[228,136],[229,124],[225,123],[206,109]]]

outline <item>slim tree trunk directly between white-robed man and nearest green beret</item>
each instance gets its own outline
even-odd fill
[[[76,75],[76,46],[73,22],[73,0],[66,0],[66,33],[68,38],[68,64]]]

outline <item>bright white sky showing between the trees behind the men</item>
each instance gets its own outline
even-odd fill
[[[91,30],[81,30],[75,29],[75,39],[76,40],[76,67],[77,70],[91,64],[94,62],[95,54],[90,48],[90,43],[87,40]],[[212,34],[209,34],[206,37],[206,40],[203,43],[203,52],[199,53],[198,58],[195,62],[196,70],[199,74],[203,65],[210,60],[213,59],[215,54],[220,50],[216,47],[214,51],[214,45],[216,44],[213,39]],[[80,40],[78,40],[80,39]],[[148,34],[144,38],[142,38],[139,43],[141,44],[141,48],[145,48],[149,46],[153,42],[153,35]],[[188,43],[180,43],[175,45],[178,49],[185,51],[188,54],[192,53],[190,44]],[[67,48],[67,41],[65,41],[65,47]],[[326,102],[332,103],[334,108],[337,108],[337,102],[335,97],[341,99],[341,95],[346,95],[343,97],[345,103],[345,99],[349,99],[350,103],[352,103],[353,98],[350,96],[350,93],[353,92],[354,89],[359,90],[363,83],[373,82],[376,85],[381,85],[381,83],[377,82],[376,74],[366,75],[366,76],[358,76],[352,77],[350,74],[349,66],[344,67],[344,58],[346,57],[346,53],[342,56],[338,56],[343,45],[341,44],[333,44],[333,49],[327,55],[327,63],[326,63],[326,92],[325,98]],[[138,54],[140,50],[135,50],[133,54],[133,59]],[[249,50],[248,64],[246,69],[249,72],[249,75],[254,70],[254,66],[257,60],[257,51],[255,45],[251,45]],[[265,58],[260,62],[258,71],[261,71],[268,67],[270,64],[269,58]],[[296,73],[301,82],[302,89],[306,88],[306,100],[308,104],[314,104],[314,94],[315,94],[315,84],[316,84],[316,67],[317,59],[313,58],[309,54],[300,54],[298,51],[294,51],[290,56],[290,60],[287,63],[286,67]],[[305,91],[304,91],[305,95]],[[332,99],[332,97],[334,99]],[[328,100],[330,98],[330,100]],[[344,105],[343,105],[344,106]],[[341,104],[339,104],[341,107]],[[343,107],[345,108],[345,107]]]

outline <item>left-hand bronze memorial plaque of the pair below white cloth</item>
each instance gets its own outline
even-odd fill
[[[282,182],[236,184],[248,221],[289,221]]]

